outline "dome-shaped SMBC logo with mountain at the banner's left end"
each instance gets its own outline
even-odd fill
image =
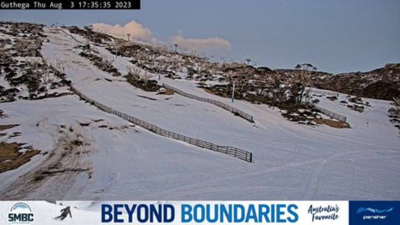
[[[31,224],[34,221],[32,209],[26,203],[16,203],[8,213],[8,223]]]

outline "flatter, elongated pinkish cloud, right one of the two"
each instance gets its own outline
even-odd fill
[[[210,48],[220,48],[230,50],[232,49],[232,45],[229,41],[218,38],[218,37],[211,37],[211,38],[184,38],[182,35],[173,36],[171,38],[173,43],[178,44],[184,48],[190,48],[193,50],[207,50]]]

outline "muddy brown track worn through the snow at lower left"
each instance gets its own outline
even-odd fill
[[[88,154],[90,143],[77,133],[60,133],[54,149],[48,153],[43,163],[20,176],[5,191],[0,200],[16,199],[62,199],[72,188],[78,174],[91,178],[92,171]]]

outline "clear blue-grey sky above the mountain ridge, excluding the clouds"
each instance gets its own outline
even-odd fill
[[[170,41],[218,37],[227,58],[251,58],[257,66],[367,71],[400,62],[399,0],[142,0],[141,10],[2,10],[0,20],[83,26],[126,24],[149,28]]]

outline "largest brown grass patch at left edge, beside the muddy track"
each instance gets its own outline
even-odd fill
[[[18,167],[28,163],[30,159],[40,153],[39,150],[27,150],[21,153],[20,147],[23,144],[14,143],[0,143],[0,173],[9,170],[17,169]]]

